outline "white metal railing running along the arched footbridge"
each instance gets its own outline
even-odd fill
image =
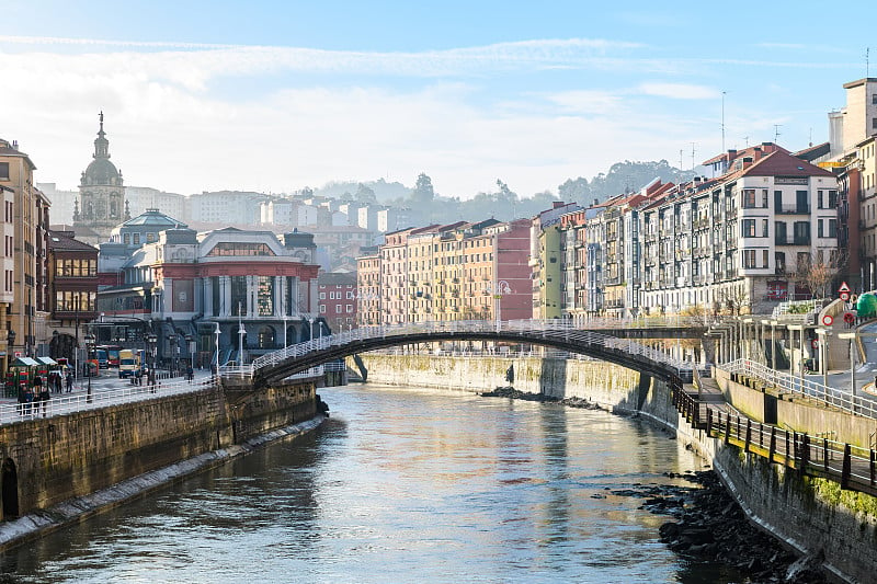
[[[703,319],[692,319],[698,322],[697,325],[703,327]],[[624,327],[618,319],[602,319],[605,322],[605,328],[619,328]],[[672,322],[672,324],[671,324]],[[667,327],[682,327],[690,320],[684,319],[669,319],[663,323]],[[338,334],[328,336],[320,336],[311,339],[304,343],[289,345],[280,351],[262,355],[253,359],[250,365],[237,367],[220,367],[220,375],[229,376],[250,376],[254,371],[263,368],[277,365],[286,359],[300,357],[317,351],[323,351],[332,346],[349,345],[357,341],[367,341],[373,339],[392,339],[395,336],[408,336],[412,334],[441,334],[441,333],[464,333],[464,332],[485,332],[485,333],[517,333],[524,336],[533,337],[534,344],[539,344],[537,337],[551,339],[555,341],[562,340],[570,342],[574,345],[581,345],[582,350],[586,346],[604,347],[608,350],[619,351],[629,355],[640,356],[646,359],[652,360],[658,364],[670,366],[676,371],[691,371],[693,365],[686,360],[680,360],[671,357],[667,353],[647,347],[643,344],[627,339],[618,339],[606,334],[601,334],[591,330],[581,330],[569,320],[565,319],[547,319],[547,320],[510,320],[510,321],[486,321],[486,320],[455,320],[455,321],[429,321],[417,322],[395,325],[381,327],[364,327],[343,331]],[[522,342],[527,342],[522,339]],[[304,375],[304,374],[299,374]]]

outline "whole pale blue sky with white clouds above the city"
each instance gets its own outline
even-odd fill
[[[722,148],[722,102],[726,148],[823,141],[842,84],[865,77],[875,8],[669,4],[12,1],[0,137],[61,188],[103,110],[130,185],[425,172],[443,195],[501,179],[529,196],[619,160],[691,168]]]

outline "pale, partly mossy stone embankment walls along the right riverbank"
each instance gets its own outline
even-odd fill
[[[514,387],[560,398],[577,397],[611,411],[638,411],[667,427],[710,460],[750,518],[797,551],[824,558],[839,581],[872,582],[877,573],[877,497],[842,491],[832,481],[800,477],[779,465],[743,453],[693,430],[670,401],[667,386],[636,371],[603,362],[539,358],[478,358],[421,355],[362,355],[368,380],[474,392],[506,386],[514,364]],[[717,371],[726,399],[753,419],[763,415],[762,392],[729,381]],[[734,403],[736,402],[736,403]],[[829,425],[853,443],[875,432],[873,420],[854,419],[812,404],[783,401],[778,416],[787,427],[818,433]],[[817,430],[821,428],[821,430]]]

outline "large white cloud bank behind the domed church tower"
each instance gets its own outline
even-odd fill
[[[413,89],[346,83],[371,69],[412,78],[424,71],[492,72],[610,62],[599,41],[509,43],[425,54],[357,54],[274,47],[138,53],[27,51],[2,55],[3,138],[18,139],[37,180],[73,187],[90,161],[96,113],[106,113],[113,161],[130,185],[184,194],[203,190],[292,191],[333,179],[385,176],[412,184],[419,172],[438,192],[469,197],[502,179],[522,195],[555,190],[617,160],[667,158],[691,141],[688,112],[648,119],[630,99],[707,88],[650,83],[635,90],[512,91],[460,82]],[[342,87],[296,87],[295,71],[337,71]],[[266,85],[247,99],[218,78]],[[357,77],[358,78],[358,77]],[[677,95],[673,95],[677,96]],[[704,98],[701,98],[704,99]],[[14,113],[14,115],[11,115]],[[692,129],[694,126],[694,129]],[[656,138],[658,136],[659,138]]]

